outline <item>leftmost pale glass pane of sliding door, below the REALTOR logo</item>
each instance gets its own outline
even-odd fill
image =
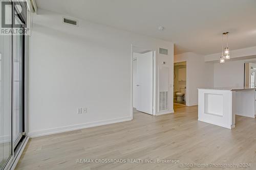
[[[12,155],[12,36],[0,36],[0,169]]]

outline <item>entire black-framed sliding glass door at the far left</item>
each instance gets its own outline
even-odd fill
[[[17,11],[17,3],[15,5],[8,1],[9,4],[6,4],[2,3],[7,2],[3,0],[0,2],[0,9],[5,9],[5,21],[10,22],[9,29],[16,32],[11,32],[11,35],[0,35],[0,170],[2,170],[13,166],[17,155],[25,145],[24,26],[26,25],[24,23],[26,19]],[[3,19],[3,13],[1,14]]]

